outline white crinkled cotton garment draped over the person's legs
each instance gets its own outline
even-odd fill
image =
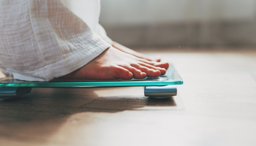
[[[15,79],[50,81],[111,46],[99,0],[1,0],[0,69]]]

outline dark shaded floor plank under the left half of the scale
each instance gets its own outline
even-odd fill
[[[94,90],[97,89],[33,88],[30,94],[20,99],[4,102],[80,107],[99,98]]]

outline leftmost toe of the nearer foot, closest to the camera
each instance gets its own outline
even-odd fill
[[[133,78],[133,74],[129,70],[119,66],[113,69],[113,75],[115,78],[123,80],[130,80]]]

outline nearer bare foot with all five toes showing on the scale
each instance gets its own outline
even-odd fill
[[[122,52],[114,47],[106,49],[95,59],[84,65],[82,68],[62,76],[69,79],[92,79],[92,80],[113,80],[132,78],[142,79],[148,77],[158,77],[166,73],[169,67],[167,62],[149,61],[134,55]]]

